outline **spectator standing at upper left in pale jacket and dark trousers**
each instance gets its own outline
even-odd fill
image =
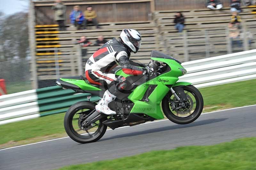
[[[59,25],[59,30],[65,31],[66,6],[61,2],[61,0],[56,0],[55,4],[52,6],[52,10],[54,10],[54,18]]]

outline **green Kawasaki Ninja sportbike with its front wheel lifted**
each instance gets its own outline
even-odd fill
[[[78,93],[90,93],[89,101],[73,104],[66,112],[64,127],[71,139],[79,143],[98,141],[106,132],[122,126],[134,126],[147,121],[164,119],[174,123],[188,124],[201,114],[204,101],[201,93],[189,82],[177,82],[187,73],[181,63],[158,51],[152,51],[149,67],[152,75],[133,76],[122,69],[116,75],[131,82],[130,89],[123,91],[116,100],[108,104],[115,115],[95,111],[95,105],[108,87],[90,84],[83,76],[60,78],[56,84],[63,89]],[[93,100],[94,98],[94,100]]]

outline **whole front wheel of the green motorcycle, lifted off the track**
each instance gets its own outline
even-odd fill
[[[188,98],[185,107],[179,106],[179,102],[171,92],[162,100],[164,115],[177,124],[188,124],[195,121],[201,115],[204,107],[203,97],[196,87],[188,85],[183,86],[183,89]],[[173,111],[173,108],[176,110]]]

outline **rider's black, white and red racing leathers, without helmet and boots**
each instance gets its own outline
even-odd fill
[[[109,73],[113,68],[120,65],[124,73],[131,75],[141,75],[147,72],[145,68],[137,67],[145,67],[144,64],[129,60],[130,55],[131,53],[123,43],[113,38],[93,53],[87,60],[85,65],[87,80],[92,84],[98,85],[103,85],[103,81],[108,85],[113,84],[110,86],[109,92],[117,96],[120,91],[126,88],[127,82],[125,77]],[[117,81],[117,86],[115,85],[115,81]]]

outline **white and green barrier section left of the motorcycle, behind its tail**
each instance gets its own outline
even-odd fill
[[[0,125],[63,113],[72,104],[88,100],[88,96],[91,96],[91,94],[77,94],[73,90],[63,90],[58,86],[4,95],[0,98],[0,101],[2,101],[0,102],[0,107],[2,107],[0,108]],[[91,97],[91,101],[98,99],[100,98]]]

